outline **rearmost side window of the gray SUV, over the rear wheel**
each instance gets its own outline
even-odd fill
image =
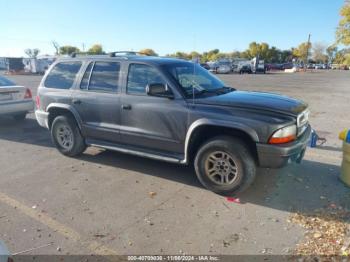
[[[69,89],[80,70],[81,62],[62,62],[52,68],[45,80],[45,87]]]

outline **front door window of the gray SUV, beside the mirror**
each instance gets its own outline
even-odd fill
[[[158,70],[144,64],[129,66],[127,93],[146,95],[146,86],[149,84],[166,84]]]

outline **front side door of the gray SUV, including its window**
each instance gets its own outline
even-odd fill
[[[149,84],[167,84],[156,67],[129,65],[121,97],[121,140],[127,145],[183,154],[188,109],[185,101],[146,94]]]

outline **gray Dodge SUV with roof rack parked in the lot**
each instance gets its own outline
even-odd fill
[[[201,66],[134,54],[56,61],[44,76],[36,118],[57,149],[87,146],[193,164],[208,189],[246,189],[257,167],[300,162],[310,136],[299,100],[227,87]]]

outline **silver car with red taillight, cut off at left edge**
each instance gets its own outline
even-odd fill
[[[24,120],[27,113],[33,110],[34,101],[30,89],[0,76],[0,116]]]

